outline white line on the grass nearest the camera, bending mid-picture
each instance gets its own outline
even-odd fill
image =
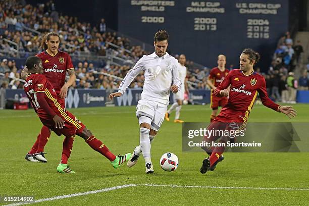
[[[88,195],[88,194],[95,194],[95,193],[107,192],[107,191],[126,188],[126,187],[136,187],[136,186],[210,188],[210,189],[305,190],[305,191],[309,191],[309,188],[285,188],[285,187],[273,187],[273,188],[271,188],[271,187],[221,187],[221,186],[194,186],[194,185],[126,184],[126,185],[120,185],[120,186],[115,186],[115,187],[108,187],[108,188],[104,188],[104,189],[92,190],[92,191],[88,191],[88,192],[81,192],[81,193],[74,193],[74,194],[67,194],[67,195],[37,199],[37,200],[31,201],[31,202],[18,202],[18,203],[13,203],[13,204],[6,204],[6,206],[17,206],[17,205],[38,203],[38,202],[43,202],[43,201],[53,201],[53,200],[58,200],[58,199],[65,199],[65,198],[70,198],[70,197],[83,196],[83,195]]]

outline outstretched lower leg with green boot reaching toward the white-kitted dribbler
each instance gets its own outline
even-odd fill
[[[126,153],[123,156],[115,156],[109,148],[102,143],[99,139],[95,138],[90,130],[88,130],[86,127],[83,129],[81,134],[78,134],[82,138],[86,140],[86,143],[95,151],[101,153],[104,157],[109,159],[111,161],[111,164],[114,168],[119,168],[123,163],[128,161],[132,154]]]

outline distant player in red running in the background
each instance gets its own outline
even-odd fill
[[[218,108],[224,107],[227,104],[228,98],[226,96],[216,96],[214,91],[217,89],[219,84],[223,81],[226,75],[229,73],[229,70],[225,68],[226,57],[224,55],[218,56],[218,67],[213,68],[208,76],[207,83],[211,87],[211,108],[213,112],[211,114],[211,122],[216,118]]]

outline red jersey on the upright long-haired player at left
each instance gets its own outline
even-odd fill
[[[70,55],[58,50],[57,55],[53,57],[45,50],[36,56],[42,60],[43,74],[59,94],[65,84],[66,71],[74,69]]]

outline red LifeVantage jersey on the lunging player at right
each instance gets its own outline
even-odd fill
[[[261,74],[253,72],[246,76],[240,69],[231,70],[214,94],[221,96],[220,91],[228,88],[229,85],[231,85],[229,100],[222,109],[223,112],[226,110],[237,111],[235,115],[239,115],[243,121],[247,121],[258,92],[263,105],[278,112],[280,106],[268,97],[265,78]]]

